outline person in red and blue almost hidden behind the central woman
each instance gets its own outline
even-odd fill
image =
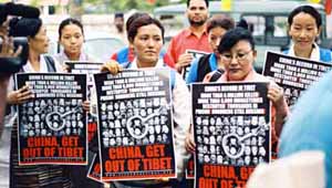
[[[131,24],[133,23],[133,21],[135,21],[137,18],[143,17],[143,15],[148,15],[148,13],[136,12],[136,13],[132,14],[128,18],[128,20],[126,21],[126,32],[127,33],[128,33],[128,30],[129,30]],[[164,62],[168,66],[170,66],[170,67],[175,66],[174,61],[163,50],[160,51],[159,56],[164,59]],[[111,59],[117,61],[120,64],[127,63],[127,62],[133,62],[133,60],[135,59],[134,49],[131,48],[129,45],[125,46],[125,48],[121,49],[118,52],[115,52],[114,54],[112,54]]]

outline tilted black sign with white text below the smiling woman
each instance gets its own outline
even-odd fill
[[[272,77],[283,87],[286,101],[292,106],[301,92],[329,70],[331,64],[267,52],[263,75]]]

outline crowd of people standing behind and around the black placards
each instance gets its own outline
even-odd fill
[[[123,69],[172,69],[177,178],[114,181],[111,182],[111,187],[186,187],[190,185],[185,181],[184,171],[189,154],[195,153],[196,145],[193,138],[193,127],[190,128],[190,92],[187,84],[247,81],[269,82],[267,97],[272,103],[271,125],[274,153],[279,157],[284,157],[305,149],[324,152],[326,155],[325,182],[326,187],[332,187],[332,116],[329,111],[331,108],[329,84],[332,72],[310,87],[290,112],[283,90],[253,69],[257,51],[246,21],[241,20],[236,23],[235,20],[224,14],[209,18],[208,8],[208,0],[187,0],[186,15],[189,27],[172,39],[167,52],[162,50],[165,42],[165,29],[158,20],[148,13],[135,13],[126,21],[128,45],[115,54],[110,54],[110,61],[104,63],[101,71],[117,74]],[[123,19],[123,15],[116,14],[116,18]],[[65,19],[60,23],[59,43],[62,45],[62,51],[54,56],[45,55],[49,38],[41,19],[22,18],[12,21],[11,24],[15,31],[11,33],[12,36],[28,36],[29,59],[20,72],[63,73],[68,71],[65,61],[93,61],[90,54],[82,50],[84,29],[75,19]],[[322,30],[322,19],[314,8],[301,6],[294,9],[289,14],[288,27],[292,42],[289,50],[283,52],[284,54],[332,63],[332,52],[320,48],[315,42]],[[193,54],[186,52],[187,50],[204,51],[207,54],[195,59]],[[180,73],[189,64],[191,66],[185,81]],[[15,88],[14,76],[10,77],[7,114],[0,143],[0,187],[103,187],[104,185],[86,178],[87,167],[18,165],[18,115],[14,105],[27,103],[32,97],[29,85]],[[90,102],[84,102],[84,106],[89,111]]]

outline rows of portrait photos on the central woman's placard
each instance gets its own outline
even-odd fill
[[[103,147],[170,142],[165,97],[102,103],[101,109]]]

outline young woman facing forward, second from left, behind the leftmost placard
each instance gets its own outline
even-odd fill
[[[65,61],[92,61],[86,53],[83,52],[84,30],[83,24],[75,19],[69,18],[63,20],[59,25],[59,42],[63,46],[63,51],[54,58],[68,70]],[[83,103],[84,108],[89,112],[90,102]],[[90,143],[90,149],[97,152],[97,140]],[[91,164],[94,153],[89,152],[89,164]],[[69,176],[74,187],[102,187],[102,184],[91,180],[86,177],[90,166],[68,166]]]

